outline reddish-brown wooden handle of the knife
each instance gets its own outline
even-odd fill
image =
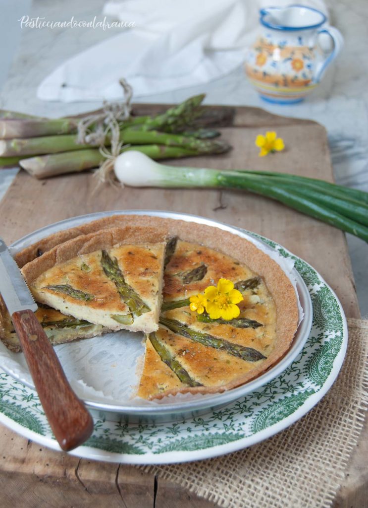
[[[86,406],[71,389],[46,333],[31,310],[12,315],[14,328],[51,429],[66,452],[82,444],[93,431]]]

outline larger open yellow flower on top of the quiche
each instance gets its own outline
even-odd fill
[[[236,305],[243,300],[243,296],[234,284],[228,279],[219,279],[217,288],[209,286],[204,290],[204,296],[207,300],[206,311],[211,319],[222,319],[230,321],[238,317],[240,309]]]

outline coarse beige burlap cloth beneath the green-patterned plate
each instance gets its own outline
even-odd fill
[[[349,319],[348,326],[348,352],[335,384],[297,423],[237,453],[145,470],[219,506],[329,507],[368,403],[368,321]]]

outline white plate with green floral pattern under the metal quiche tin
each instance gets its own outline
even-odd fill
[[[263,386],[206,415],[173,423],[124,423],[109,418],[108,413],[107,418],[97,416],[92,437],[70,452],[72,455],[131,464],[223,455],[285,429],[304,416],[332,386],[347,347],[346,319],[336,294],[305,261],[267,238],[246,233],[292,259],[307,285],[313,321],[299,355]],[[60,450],[37,394],[6,373],[0,373],[0,422],[28,439]]]

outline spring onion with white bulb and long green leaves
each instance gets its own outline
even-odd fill
[[[135,150],[120,154],[116,158],[114,171],[122,184],[132,187],[222,187],[248,190],[280,201],[368,242],[365,201],[357,203],[358,200],[352,199],[349,192],[344,199],[341,192],[344,187],[341,186],[336,186],[338,192],[333,195],[334,184],[328,185],[328,194],[324,193],[323,186],[308,193],[308,187],[303,189],[301,185],[303,177],[298,177],[294,183],[291,179],[291,183],[289,180],[285,184],[282,178],[278,182],[270,173],[165,166]],[[364,196],[367,194],[362,191],[360,193]]]

